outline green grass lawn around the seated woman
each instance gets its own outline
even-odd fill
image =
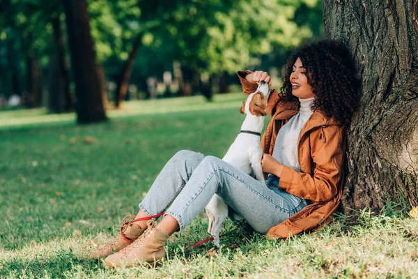
[[[270,241],[226,223],[214,255],[201,213],[155,269],[104,269],[86,256],[105,243],[180,149],[222,157],[238,132],[241,94],[129,103],[111,121],[0,112],[0,278],[418,278],[418,221],[387,207],[355,223],[339,216],[316,234]],[[85,137],[93,142],[84,142]]]

